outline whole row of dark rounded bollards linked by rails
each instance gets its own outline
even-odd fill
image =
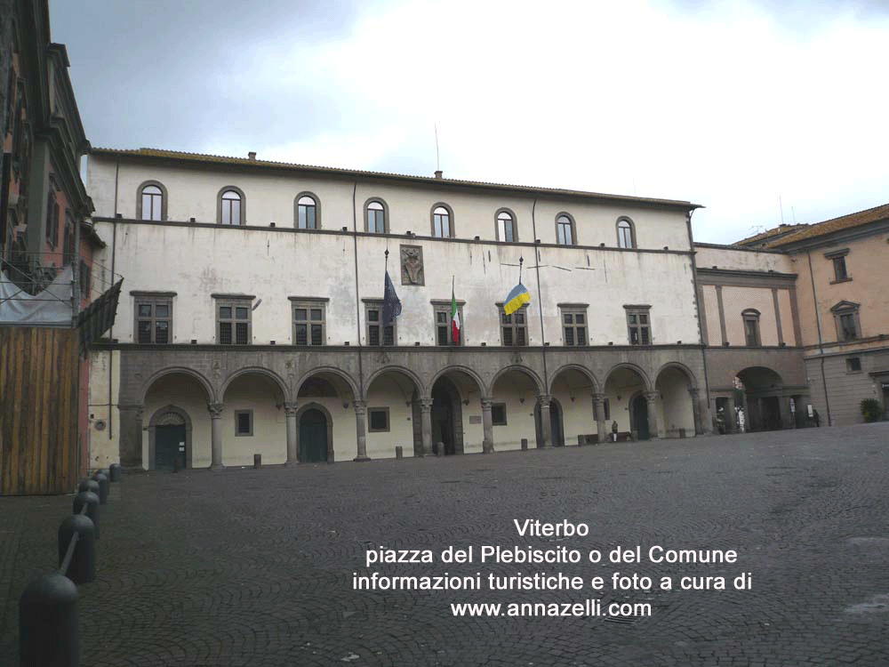
[[[121,467],[97,470],[77,485],[74,513],[59,526],[59,569],[29,583],[19,599],[20,667],[77,667],[77,586],[96,578],[99,508]]]

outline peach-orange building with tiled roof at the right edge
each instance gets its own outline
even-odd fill
[[[861,401],[889,410],[889,205],[782,226],[741,241],[785,253],[797,278],[805,374],[821,421],[859,423]]]

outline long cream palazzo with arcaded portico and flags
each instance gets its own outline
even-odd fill
[[[88,183],[124,276],[92,466],[709,430],[689,202],[153,149],[93,149]],[[532,301],[507,316],[520,264]]]

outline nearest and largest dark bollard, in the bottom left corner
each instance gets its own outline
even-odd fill
[[[77,667],[77,587],[58,572],[28,584],[19,599],[20,667]]]

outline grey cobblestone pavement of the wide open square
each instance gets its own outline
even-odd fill
[[[889,423],[445,459],[124,477],[81,587],[84,665],[887,665]],[[0,663],[71,497],[0,499]],[[586,523],[520,537],[514,518]],[[737,550],[734,564],[397,564],[367,549]],[[601,592],[355,591],[369,575],[605,576]],[[656,577],[612,591],[611,575]],[[733,577],[750,573],[752,588]],[[725,576],[683,591],[682,576]],[[676,588],[660,591],[661,576]],[[648,602],[650,616],[455,616],[451,603]],[[4,662],[5,659],[5,662]]]

